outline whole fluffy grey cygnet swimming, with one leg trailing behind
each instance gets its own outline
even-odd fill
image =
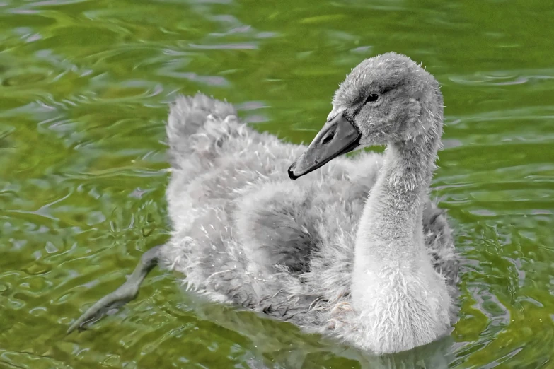
[[[442,106],[433,76],[394,53],[352,70],[308,147],[250,129],[226,102],[178,98],[167,124],[173,236],[68,332],[132,300],[160,264],[210,300],[373,353],[449,334],[458,259],[429,200]],[[342,156],[372,145],[386,151]]]

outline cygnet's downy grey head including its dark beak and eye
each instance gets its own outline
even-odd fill
[[[439,122],[442,95],[431,74],[393,52],[366,59],[340,83],[327,123],[291,165],[289,177],[359,148],[414,139]]]

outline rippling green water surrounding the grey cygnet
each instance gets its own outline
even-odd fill
[[[446,362],[554,368],[553,19],[543,0],[0,0],[0,367],[360,368],[289,324],[202,314],[157,270],[64,332],[168,238],[175,95],[309,141],[345,74],[393,50],[448,106],[434,188],[464,262]]]

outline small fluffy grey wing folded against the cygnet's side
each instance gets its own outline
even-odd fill
[[[293,274],[308,271],[320,241],[310,208],[308,188],[290,180],[267,182],[238,200],[238,240],[253,269],[262,275],[283,267]]]

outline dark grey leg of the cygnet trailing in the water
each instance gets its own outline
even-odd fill
[[[117,309],[117,307],[121,307],[129,301],[134,300],[139,293],[139,287],[144,277],[154,269],[154,266],[158,265],[161,247],[162,245],[158,245],[144,252],[129,279],[120,288],[117,288],[112,293],[108,293],[108,295],[100,298],[97,303],[89,307],[78,320],[71,324],[71,327],[67,329],[67,333],[69,334],[75,329],[81,331],[84,329],[85,324],[93,324],[110,312],[110,310]]]

